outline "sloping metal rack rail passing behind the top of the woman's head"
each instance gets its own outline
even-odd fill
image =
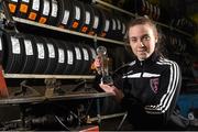
[[[108,8],[114,9],[114,10],[117,10],[117,11],[120,11],[120,12],[125,13],[125,14],[128,14],[128,15],[131,15],[131,16],[133,16],[133,18],[139,16],[138,14],[133,14],[133,13],[131,13],[131,12],[129,12],[129,11],[125,11],[125,10],[123,10],[123,9],[120,9],[120,8],[116,7],[116,6],[112,6],[112,4],[110,4],[110,3],[103,2],[102,0],[94,0],[94,2],[98,2],[99,4],[102,4],[102,6],[106,6],[106,7],[108,7]],[[193,37],[190,34],[188,34],[188,33],[186,33],[186,32],[184,32],[184,31],[182,31],[182,30],[178,30],[178,29],[176,29],[176,28],[173,28],[172,25],[166,25],[166,24],[163,24],[163,23],[160,23],[160,22],[155,22],[155,23],[158,24],[158,25],[161,25],[161,26],[167,28],[167,29],[169,29],[169,30],[172,30],[172,31],[176,31],[176,32],[178,32],[178,33],[182,33],[182,34],[184,34],[184,35],[187,35],[187,36]]]

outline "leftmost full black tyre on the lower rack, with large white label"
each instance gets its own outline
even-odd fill
[[[4,58],[3,69],[8,74],[20,73],[23,63],[23,46],[15,33],[3,34]]]

